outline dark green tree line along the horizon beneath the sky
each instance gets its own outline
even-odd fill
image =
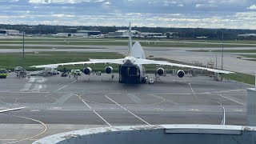
[[[77,30],[100,30],[102,34],[114,32],[116,30],[128,30],[127,26],[50,26],[50,25],[6,25],[0,24],[0,29],[5,30],[24,30],[26,34],[57,34],[57,33],[75,33]],[[250,39],[256,40],[256,37],[238,37],[238,34],[256,34],[256,30],[243,29],[206,29],[206,28],[166,28],[166,27],[138,27],[133,30],[148,33],[166,34],[167,38],[178,39],[213,39],[222,40],[222,33],[225,40]]]

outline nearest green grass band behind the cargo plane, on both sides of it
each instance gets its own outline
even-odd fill
[[[54,63],[62,63],[62,62],[82,62],[88,61],[89,58],[124,58],[124,55],[117,54],[117,53],[109,53],[109,52],[102,52],[102,53],[92,53],[92,52],[39,52],[38,54],[35,53],[26,53],[25,55],[25,64],[26,70],[38,70],[35,68],[30,68],[29,66],[34,65],[44,65],[44,64],[54,64]],[[182,64],[188,64],[185,62],[178,62],[173,61],[166,58],[151,58],[154,60],[161,60],[161,61],[169,61],[169,62],[176,62]],[[19,53],[7,53],[7,54],[0,54],[0,68],[6,68],[10,70],[14,70],[15,66],[22,66],[22,58]],[[96,64],[96,65],[89,65],[94,71],[104,71],[106,67],[105,64]],[[111,64],[113,66],[114,72],[118,72],[118,65]],[[75,66],[65,66],[67,70],[71,69],[80,69],[82,70],[86,66],[82,65],[75,65]],[[58,70],[63,70],[63,66],[59,66]],[[156,66],[155,65],[146,65],[146,72],[155,72]],[[171,67],[171,66],[162,66],[165,70],[179,70],[178,67]],[[182,70],[188,70],[184,68]],[[222,74],[223,78],[233,79],[238,82],[245,82],[249,84],[254,84],[254,76],[249,74]]]

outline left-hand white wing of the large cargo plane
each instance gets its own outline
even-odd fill
[[[123,64],[123,58],[121,59],[90,59],[87,62],[67,62],[67,63],[55,63],[48,65],[39,65],[39,66],[30,66],[35,68],[57,68],[58,66],[66,66],[66,65],[86,65],[86,64],[95,64],[95,63],[114,63],[114,64]]]

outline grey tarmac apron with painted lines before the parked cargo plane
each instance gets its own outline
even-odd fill
[[[154,84],[120,84],[108,74],[0,79],[0,143],[32,143],[50,134],[102,126],[246,125],[246,88],[210,77],[161,77]]]

